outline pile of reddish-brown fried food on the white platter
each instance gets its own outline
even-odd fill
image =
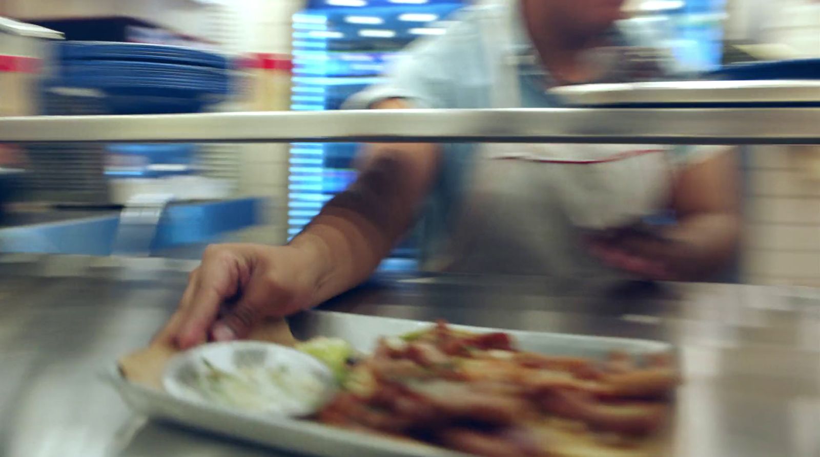
[[[382,339],[318,419],[487,457],[646,457],[670,416],[672,366],[540,355],[440,322]]]

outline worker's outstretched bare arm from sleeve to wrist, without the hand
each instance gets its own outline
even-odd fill
[[[407,108],[390,99],[377,109]],[[367,147],[358,178],[328,201],[290,246],[317,259],[319,282],[309,305],[338,295],[366,279],[410,228],[438,166],[438,147],[385,143]]]

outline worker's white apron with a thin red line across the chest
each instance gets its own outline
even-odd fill
[[[517,63],[499,61],[494,107],[521,107]],[[674,172],[669,147],[661,145],[476,147],[462,215],[435,269],[594,283],[626,278],[591,256],[582,234],[631,224],[662,208]]]

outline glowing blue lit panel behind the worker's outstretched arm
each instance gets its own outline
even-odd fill
[[[461,0],[309,1],[308,8],[293,17],[291,109],[339,109],[353,93],[378,84],[412,40],[443,33],[446,19],[459,7]],[[291,145],[289,237],[355,178],[352,162],[357,149],[353,143]],[[412,241],[403,243],[393,256],[414,258]]]

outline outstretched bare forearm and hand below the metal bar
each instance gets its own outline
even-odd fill
[[[367,278],[412,222],[432,175],[425,151],[377,147],[358,179],[287,247],[209,247],[161,339],[186,348],[245,337],[262,319],[317,305]]]

